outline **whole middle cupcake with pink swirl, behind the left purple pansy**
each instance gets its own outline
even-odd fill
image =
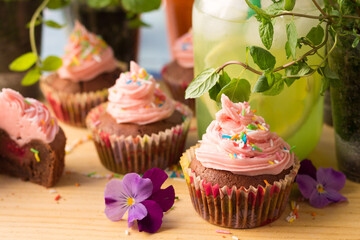
[[[130,72],[109,89],[108,100],[86,118],[106,168],[144,173],[179,161],[192,112],[166,96],[143,68],[131,62]]]

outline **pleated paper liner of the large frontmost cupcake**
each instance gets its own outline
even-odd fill
[[[224,186],[206,182],[189,168],[195,147],[188,149],[180,164],[195,210],[206,221],[228,228],[254,228],[278,219],[284,212],[300,163],[295,159],[290,173],[266,187]]]

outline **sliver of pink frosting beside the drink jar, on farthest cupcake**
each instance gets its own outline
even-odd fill
[[[193,35],[191,30],[176,40],[173,51],[180,66],[184,68],[194,67]]]

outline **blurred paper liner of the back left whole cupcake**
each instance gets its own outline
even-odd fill
[[[90,110],[107,101],[108,90],[96,92],[66,93],[57,91],[41,79],[40,88],[50,104],[55,116],[69,125],[86,127],[85,120]]]

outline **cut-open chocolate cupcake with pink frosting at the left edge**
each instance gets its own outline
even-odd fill
[[[0,174],[51,187],[64,170],[63,130],[41,102],[0,92]]]

